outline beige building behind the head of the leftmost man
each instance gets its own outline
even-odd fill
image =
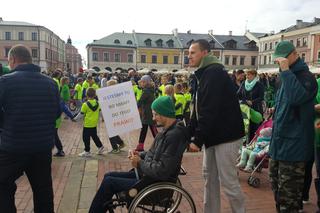
[[[43,26],[0,18],[0,63],[8,63],[9,50],[17,44],[30,48],[42,71],[65,68],[65,42],[59,36]]]

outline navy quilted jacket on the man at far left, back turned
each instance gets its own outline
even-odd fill
[[[13,153],[49,151],[60,116],[57,84],[33,64],[19,65],[0,78],[3,132],[0,150]]]

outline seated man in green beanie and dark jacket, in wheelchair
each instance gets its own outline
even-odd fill
[[[180,171],[183,152],[189,140],[188,131],[177,124],[173,101],[161,96],[151,105],[153,119],[163,126],[152,147],[147,152],[129,153],[133,168],[136,168],[142,180],[149,183],[175,181]],[[112,200],[114,194],[128,191],[139,180],[135,171],[106,173],[91,203],[89,213],[106,212],[105,203]]]

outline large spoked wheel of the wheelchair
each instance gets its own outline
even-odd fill
[[[156,183],[145,188],[133,199],[129,213],[152,212],[196,212],[196,206],[190,194],[177,184]]]

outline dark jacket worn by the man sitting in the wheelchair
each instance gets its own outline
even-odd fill
[[[161,181],[177,178],[189,137],[186,127],[179,124],[158,133],[149,151],[140,154],[140,175]]]

